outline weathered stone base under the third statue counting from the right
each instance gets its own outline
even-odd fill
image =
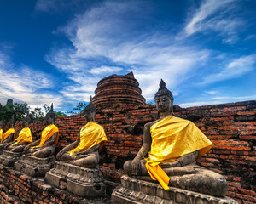
[[[19,161],[15,162],[15,170],[26,173],[32,177],[44,177],[45,173],[54,167],[54,156],[47,158],[38,158],[35,156],[21,156]]]

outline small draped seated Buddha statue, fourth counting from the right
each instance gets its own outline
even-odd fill
[[[27,114],[22,122],[22,130],[15,141],[6,144],[5,149],[13,152],[22,152],[27,144],[32,143],[32,133],[28,127],[29,122],[31,122],[30,116]]]

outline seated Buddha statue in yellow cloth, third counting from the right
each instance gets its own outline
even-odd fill
[[[47,127],[42,131],[41,138],[26,145],[24,152],[28,156],[35,156],[38,158],[46,158],[53,156],[55,152],[55,145],[59,139],[59,129],[55,127],[55,112],[53,111],[53,104],[50,111],[45,116]]]

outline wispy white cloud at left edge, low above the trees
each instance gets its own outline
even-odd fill
[[[0,52],[0,101],[4,104],[7,99],[27,103],[31,106],[41,106],[50,103],[61,105],[61,96],[45,91],[54,84],[51,77],[41,71],[21,65],[15,67],[8,55]]]

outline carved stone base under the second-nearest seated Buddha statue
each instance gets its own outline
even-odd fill
[[[55,167],[46,173],[44,180],[59,189],[81,197],[101,197],[106,195],[106,185],[103,183],[99,169],[74,166],[55,162]]]

